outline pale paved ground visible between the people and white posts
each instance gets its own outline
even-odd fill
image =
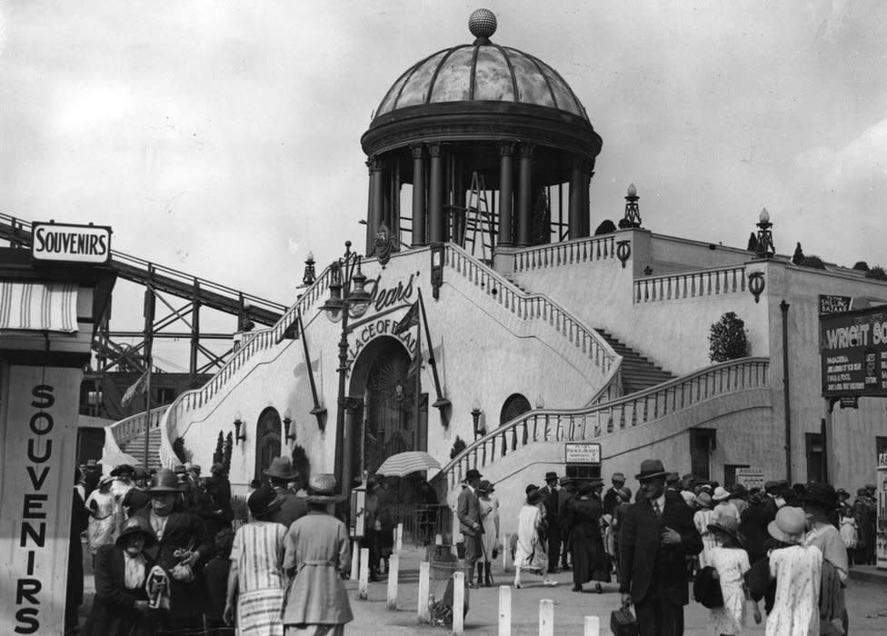
[[[405,548],[401,552],[401,575],[399,577],[398,610],[386,609],[387,583],[370,583],[369,598],[357,600],[357,582],[345,581],[351,597],[354,622],[346,632],[354,634],[375,634],[377,636],[404,636],[414,633],[447,634],[449,631],[430,625],[420,626],[416,621],[416,599],[419,581],[419,563],[425,557],[424,550]],[[88,561],[88,558],[86,559]],[[85,617],[92,602],[93,578],[87,563],[85,581],[86,601],[81,608]],[[501,562],[493,570],[496,584],[511,584],[513,573],[502,571]],[[601,634],[610,633],[610,612],[619,606],[619,594],[615,583],[604,586],[603,594],[591,591],[578,593],[571,591],[573,585],[570,572],[555,574],[560,585],[555,588],[542,586],[539,577],[526,576],[526,584],[521,590],[512,589],[512,634],[531,635],[539,632],[539,601],[554,601],[554,632],[556,634],[583,633],[585,616],[598,616],[601,619]],[[586,588],[589,586],[586,586]],[[465,633],[472,636],[498,634],[499,589],[482,588],[469,591],[471,610],[465,619]],[[853,572],[847,588],[847,604],[850,613],[851,633],[887,634],[887,572],[874,568],[859,568]],[[686,636],[708,636],[705,628],[708,610],[691,601],[684,612]],[[765,617],[766,620],[766,617]],[[762,634],[763,625],[752,624],[746,633]]]

